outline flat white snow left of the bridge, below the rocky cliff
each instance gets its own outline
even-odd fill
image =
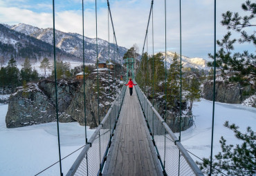
[[[6,128],[7,110],[7,104],[0,104],[0,175],[35,175],[57,162],[57,123]],[[88,139],[93,132],[87,126]],[[83,146],[84,126],[60,123],[60,145],[62,158]],[[81,150],[62,160],[64,175]],[[60,165],[55,164],[40,175],[60,175]]]

